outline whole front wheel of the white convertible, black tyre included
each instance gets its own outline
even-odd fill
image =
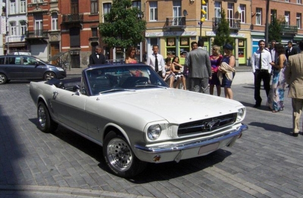
[[[103,155],[111,171],[120,177],[133,177],[146,166],[146,162],[134,155],[127,140],[115,131],[110,131],[105,137]]]

